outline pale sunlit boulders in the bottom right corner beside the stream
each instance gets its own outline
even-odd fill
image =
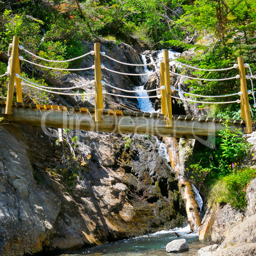
[[[248,135],[255,154],[255,132]],[[253,165],[255,157],[246,162]],[[199,229],[199,240],[211,244],[202,248],[197,255],[256,255],[256,179],[246,188],[248,205],[239,211],[227,204],[206,211]]]

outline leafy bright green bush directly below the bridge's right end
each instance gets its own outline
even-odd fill
[[[216,138],[216,148],[204,148],[194,155],[195,163],[190,165],[190,178],[198,187],[203,186],[204,182],[210,184],[232,173],[232,164],[240,162],[248,153],[250,145],[241,132],[231,133],[227,123],[219,135]]]

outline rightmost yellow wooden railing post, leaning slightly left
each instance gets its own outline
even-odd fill
[[[238,57],[238,67],[241,83],[241,118],[245,120],[246,133],[252,132],[252,119],[250,115],[250,105],[248,99],[248,92],[246,86],[246,77],[245,77],[245,65],[243,62],[243,57]]]

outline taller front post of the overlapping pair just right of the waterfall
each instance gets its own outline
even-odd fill
[[[171,110],[171,82],[169,72],[169,52],[164,50],[164,85],[166,87],[166,120],[167,127],[173,127],[173,113]]]

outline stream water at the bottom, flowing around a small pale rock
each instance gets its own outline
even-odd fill
[[[174,231],[180,235],[177,238]],[[159,231],[154,234],[146,236],[139,236],[138,238],[125,239],[109,243],[107,245],[99,245],[93,248],[87,248],[73,254],[61,254],[61,256],[80,256],[80,255],[106,255],[106,256],[142,256],[142,255],[194,255],[197,250],[205,245],[201,245],[198,241],[198,234],[188,234],[190,231],[189,225],[183,229],[173,229],[171,231]],[[183,253],[167,253],[167,243],[174,239],[185,238],[189,244],[190,250]]]

